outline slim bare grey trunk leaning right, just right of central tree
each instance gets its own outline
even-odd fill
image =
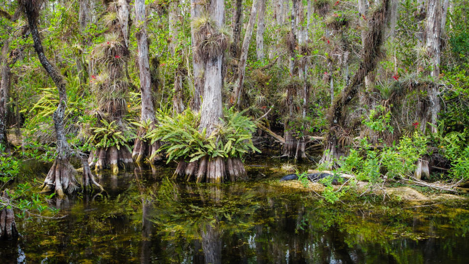
[[[257,2],[253,0],[253,6],[251,8],[251,15],[249,16],[248,26],[246,28],[246,34],[244,35],[243,46],[241,48],[241,57],[239,58],[238,72],[236,75],[235,88],[230,98],[230,103],[233,105],[241,105],[241,93],[244,83],[244,73],[246,71],[246,61],[248,59],[249,44],[251,44],[251,37],[253,35],[254,23],[256,23],[257,13]]]

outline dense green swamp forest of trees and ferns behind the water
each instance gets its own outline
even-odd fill
[[[455,190],[469,179],[468,8],[5,0],[1,217],[46,210],[36,179],[15,181],[31,158],[51,164],[48,198],[103,190],[95,172],[142,163],[177,164],[174,177],[197,183],[246,180],[256,153],[370,189],[405,179]],[[329,188],[327,200],[343,195]]]

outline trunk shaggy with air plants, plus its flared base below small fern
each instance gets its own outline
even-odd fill
[[[98,100],[101,104],[98,109],[102,114],[98,114],[99,120],[106,120],[107,123],[115,122],[120,130],[126,130],[124,126],[125,113],[127,112],[127,104],[122,100],[122,95],[126,95],[129,86],[129,77],[127,72],[127,62],[130,57],[128,50],[129,43],[129,6],[127,0],[114,0],[105,1],[106,10],[108,13],[116,12],[116,19],[109,24],[106,36],[115,36],[118,44],[105,42],[97,45],[95,49],[101,46],[107,48],[99,62],[99,68],[102,69],[100,73],[106,79],[102,84],[94,84],[92,88],[96,90]],[[94,51],[93,51],[94,52]],[[104,63],[104,61],[108,63]],[[109,92],[112,88],[113,93]],[[113,95],[120,93],[119,95]],[[142,100],[143,101],[143,100]],[[104,102],[104,103],[103,103]],[[143,102],[142,102],[143,103]],[[94,159],[97,158],[95,162]],[[94,166],[96,171],[100,171],[110,167],[112,173],[118,173],[119,168],[133,167],[132,153],[125,146],[112,146],[109,148],[99,147],[92,152],[88,158],[88,163],[91,167]]]

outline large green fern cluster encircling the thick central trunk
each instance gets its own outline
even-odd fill
[[[166,151],[168,162],[171,160],[196,161],[207,156],[239,157],[249,151],[260,152],[253,144],[252,133],[256,126],[243,116],[243,112],[232,109],[223,111],[224,119],[215,131],[207,135],[206,130],[199,131],[200,114],[186,110],[174,117],[157,113],[159,126],[148,132],[146,137],[151,143],[161,140],[166,144],[159,151]]]

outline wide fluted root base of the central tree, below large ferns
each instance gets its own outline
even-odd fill
[[[174,172],[174,177],[184,176],[187,181],[195,180],[197,183],[223,183],[226,180],[236,181],[247,179],[244,164],[240,158],[208,157],[187,163],[180,161]]]

